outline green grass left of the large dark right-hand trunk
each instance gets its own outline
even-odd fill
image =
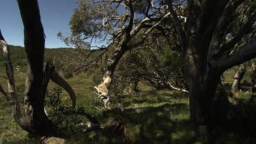
[[[1,67],[0,67],[1,68]],[[2,71],[3,72],[3,71]],[[18,85],[25,83],[25,74],[15,72],[15,80]],[[6,81],[1,77],[0,81]],[[133,96],[120,96],[124,102],[124,113],[118,106],[116,98],[113,98],[113,108],[111,110],[99,111],[100,102],[94,94],[95,84],[86,74],[80,74],[69,78],[68,83],[73,87],[77,95],[77,106],[85,107],[90,115],[99,119],[101,124],[108,124],[111,119],[119,119],[124,124],[128,139],[134,143],[169,143],[170,141],[191,142],[193,140],[193,130],[190,128],[188,116],[188,96],[186,93],[175,91],[156,91],[152,87],[143,84],[139,88],[143,91],[134,93]],[[53,82],[48,85],[49,89],[56,87]],[[6,89],[7,86],[3,87]],[[5,98],[1,96],[3,102]],[[70,98],[66,91],[61,93],[61,102],[71,105]],[[1,107],[1,143],[33,143],[25,130],[22,130],[12,119],[10,108],[7,104]],[[188,134],[185,134],[188,132]],[[104,133],[104,132],[103,132]],[[80,136],[79,136],[80,134]],[[104,135],[104,134],[103,134]],[[87,138],[84,139],[84,137]],[[184,139],[186,137],[186,139]],[[97,140],[97,141],[96,141]],[[80,142],[79,142],[80,141]],[[78,133],[70,136],[66,143],[106,143],[109,141],[109,135],[101,136],[99,132],[90,132],[90,134]],[[120,139],[113,138],[113,142],[120,142]]]

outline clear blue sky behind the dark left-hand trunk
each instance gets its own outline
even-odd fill
[[[8,44],[24,46],[23,23],[16,0],[0,0],[0,29]],[[78,7],[76,0],[38,0],[46,48],[67,47],[57,33],[70,33],[69,20]]]

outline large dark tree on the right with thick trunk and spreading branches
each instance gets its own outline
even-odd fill
[[[256,3],[255,0],[183,1],[186,23],[182,23],[175,2],[166,0],[182,46],[190,91],[190,118],[211,127],[223,121],[227,112],[221,74],[256,57]]]

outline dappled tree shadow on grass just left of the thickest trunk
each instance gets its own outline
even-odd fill
[[[104,117],[117,117],[128,130],[131,143],[194,143],[196,141],[190,124],[187,104],[164,104],[104,111]],[[117,143],[118,141],[112,141]]]

